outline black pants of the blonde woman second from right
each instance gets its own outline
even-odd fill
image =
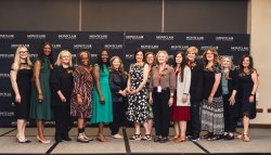
[[[237,118],[234,116],[233,106],[229,102],[230,94],[223,95],[223,107],[224,107],[224,131],[235,132]]]

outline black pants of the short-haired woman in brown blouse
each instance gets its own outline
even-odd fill
[[[153,90],[153,113],[156,135],[168,137],[169,134],[169,89],[162,90],[159,93],[157,89]]]

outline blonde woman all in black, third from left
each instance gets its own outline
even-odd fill
[[[55,141],[70,141],[68,137],[70,122],[70,95],[73,91],[73,67],[69,51],[61,51],[52,70],[50,82],[52,105],[55,116]]]

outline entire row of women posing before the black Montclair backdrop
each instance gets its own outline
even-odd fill
[[[25,138],[28,118],[36,119],[38,142],[50,143],[44,137],[44,121],[52,118],[55,141],[70,141],[70,116],[77,118],[77,141],[82,143],[92,141],[85,132],[87,122],[99,125],[98,141],[108,141],[103,134],[104,124],[109,124],[113,138],[121,139],[119,128],[125,117],[136,128],[130,140],[152,140],[155,124],[154,142],[165,143],[199,140],[201,130],[208,131],[203,138],[210,141],[232,140],[241,116],[244,133],[237,139],[249,141],[248,125],[256,117],[258,87],[251,56],[242,57],[240,70],[233,70],[231,57],[220,60],[212,48],[206,49],[203,62],[197,57],[197,48],[190,47],[186,53],[177,52],[170,66],[167,51],[155,55],[138,49],[136,63],[126,73],[121,59],[109,59],[106,49],[99,52],[94,65],[89,52],[79,52],[74,68],[67,50],[61,51],[53,64],[52,46],[42,42],[33,66],[27,48],[20,46],[11,70],[17,142],[30,142]],[[176,134],[169,139],[170,120]]]

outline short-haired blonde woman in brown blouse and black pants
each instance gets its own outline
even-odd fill
[[[154,142],[166,143],[169,134],[169,109],[173,104],[176,74],[169,66],[167,51],[158,51],[157,65],[153,67],[150,81],[150,103],[153,104],[155,134]]]

